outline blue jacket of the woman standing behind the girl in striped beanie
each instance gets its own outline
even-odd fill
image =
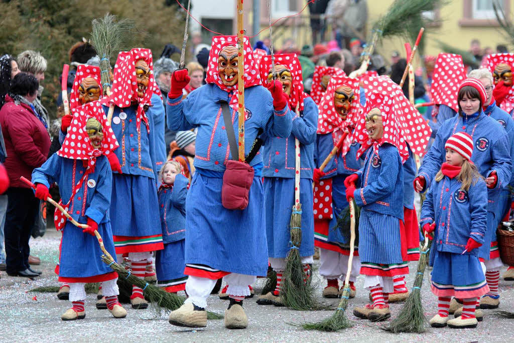
[[[473,138],[475,144],[471,160],[480,174],[487,177],[493,170],[498,174],[498,183],[495,189],[488,189],[487,198],[487,210],[494,212],[500,196],[497,190],[510,182],[512,161],[506,131],[498,121],[484,115],[482,110],[478,115],[455,116],[441,125],[432,147],[423,157],[418,175],[425,177],[425,188],[430,187],[445,161],[446,140],[457,132],[466,132]]]

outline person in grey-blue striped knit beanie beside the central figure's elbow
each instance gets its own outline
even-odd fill
[[[178,131],[175,140],[170,144],[170,154],[168,160],[175,159],[182,166],[182,173],[191,182],[194,175],[194,155],[195,155],[196,134],[192,131]]]

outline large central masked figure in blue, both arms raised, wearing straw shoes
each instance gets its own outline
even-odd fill
[[[175,71],[167,100],[168,127],[171,130],[198,128],[196,156],[191,187],[186,199],[186,269],[189,275],[186,292],[189,298],[180,309],[170,314],[172,324],[189,327],[207,325],[206,299],[216,280],[225,277],[229,284],[229,309],[225,313],[227,328],[246,328],[248,319],[241,306],[250,295],[249,285],[256,276],[267,273],[266,236],[262,229],[264,187],[262,154],[249,164],[253,167],[253,183],[248,193],[248,206],[228,210],[222,205],[225,165],[231,158],[222,102],[228,102],[234,131],[237,132],[238,78],[245,86],[245,149],[250,152],[260,130],[269,136],[289,137],[292,118],[282,84],[271,84],[270,92],[260,85],[247,37],[244,38],[244,75],[238,75],[235,36],[212,39],[207,70],[207,85],[191,92],[182,100],[182,89],[189,83],[187,70]]]

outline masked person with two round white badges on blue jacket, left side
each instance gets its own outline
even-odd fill
[[[156,130],[154,115],[146,115],[154,94],[152,52],[139,48],[120,52],[112,94],[100,100],[106,114],[109,106],[114,107],[111,127],[121,145],[115,153],[122,173],[113,173],[116,196],[110,211],[118,261],[128,253],[132,274],[141,279],[147,275],[151,251],[163,248],[156,187]],[[134,309],[148,307],[142,288],[133,285],[131,304]]]

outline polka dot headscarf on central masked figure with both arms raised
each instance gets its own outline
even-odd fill
[[[211,50],[209,51],[209,65],[207,66],[207,78],[205,81],[207,83],[215,83],[225,92],[231,93],[232,96],[230,98],[229,105],[234,111],[237,111],[237,83],[233,86],[224,85],[218,73],[219,53],[227,45],[233,45],[237,48],[237,37],[235,35],[217,35],[212,38]],[[243,37],[243,48],[245,51],[245,88],[261,84],[261,76],[259,75],[259,62],[253,56],[250,40],[246,36]]]

